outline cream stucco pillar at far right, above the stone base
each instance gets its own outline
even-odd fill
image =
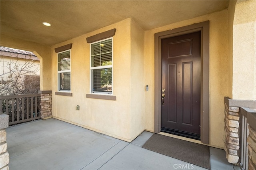
[[[256,100],[256,0],[236,3],[232,83],[232,99]]]

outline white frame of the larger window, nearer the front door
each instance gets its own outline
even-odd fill
[[[111,53],[112,53],[111,62],[112,62],[112,65],[92,67],[92,45],[95,44],[95,43],[104,42],[106,40],[111,40],[111,42],[112,42],[112,48],[111,48]],[[92,87],[93,87],[93,80],[92,80],[93,70],[105,69],[105,68],[111,68],[112,69],[112,71],[111,71],[111,76],[112,76],[112,83],[111,83],[112,84],[112,90],[111,90],[111,93],[110,92],[103,92],[103,91],[102,92],[101,91],[93,91],[93,89],[92,89]],[[105,38],[105,39],[90,43],[90,94],[94,94],[94,95],[113,95],[113,37]]]

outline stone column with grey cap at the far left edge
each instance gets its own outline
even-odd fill
[[[9,116],[0,113],[0,170],[9,170],[9,153],[7,152],[6,130],[9,124]]]

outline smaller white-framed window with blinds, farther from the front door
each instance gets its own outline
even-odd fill
[[[58,53],[58,90],[70,91],[70,50]]]

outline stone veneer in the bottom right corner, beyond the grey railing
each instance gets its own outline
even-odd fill
[[[250,125],[248,142],[248,170],[256,170],[256,130]]]

